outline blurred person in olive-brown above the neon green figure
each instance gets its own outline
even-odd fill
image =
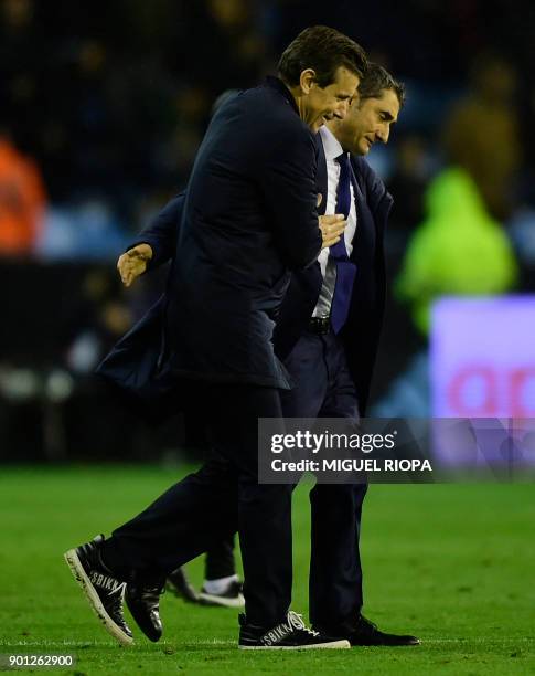
[[[478,56],[469,94],[454,107],[443,130],[449,163],[468,171],[486,209],[501,221],[511,215],[522,160],[516,81],[515,70],[501,56]]]

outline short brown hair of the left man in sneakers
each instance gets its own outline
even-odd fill
[[[312,68],[318,85],[327,87],[334,82],[340,66],[362,77],[367,66],[366,53],[361,45],[335,29],[312,25],[286,47],[278,71],[286,84],[296,86],[301,73]]]

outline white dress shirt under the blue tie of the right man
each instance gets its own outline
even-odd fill
[[[323,150],[325,152],[327,161],[327,207],[325,215],[336,213],[336,193],[338,184],[340,180],[340,165],[336,161],[336,157],[342,155],[343,148],[339,140],[324,125],[320,128],[321,142],[323,144]],[[355,209],[355,196],[353,192],[353,184],[350,186],[351,190],[351,208],[347,216],[347,224],[344,230],[345,249],[347,255],[351,256],[353,251],[353,239],[356,232],[356,209]],[[325,196],[323,196],[325,199]],[[329,317],[331,314],[332,297],[334,295],[334,286],[336,284],[336,264],[329,256],[329,247],[322,249],[318,261],[321,267],[321,274],[323,276],[323,284],[321,285],[320,296],[318,298],[318,305],[312,313],[312,317]]]

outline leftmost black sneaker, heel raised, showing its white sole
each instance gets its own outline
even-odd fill
[[[126,581],[118,580],[100,558],[104,536],[65,552],[64,558],[90,606],[106,630],[121,645],[133,643],[132,632],[122,616]]]

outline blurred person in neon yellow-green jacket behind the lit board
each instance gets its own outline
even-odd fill
[[[430,415],[427,336],[437,298],[504,294],[517,278],[512,244],[471,176],[460,167],[443,169],[426,191],[425,220],[409,240],[395,282],[425,345],[375,404],[374,415]]]

